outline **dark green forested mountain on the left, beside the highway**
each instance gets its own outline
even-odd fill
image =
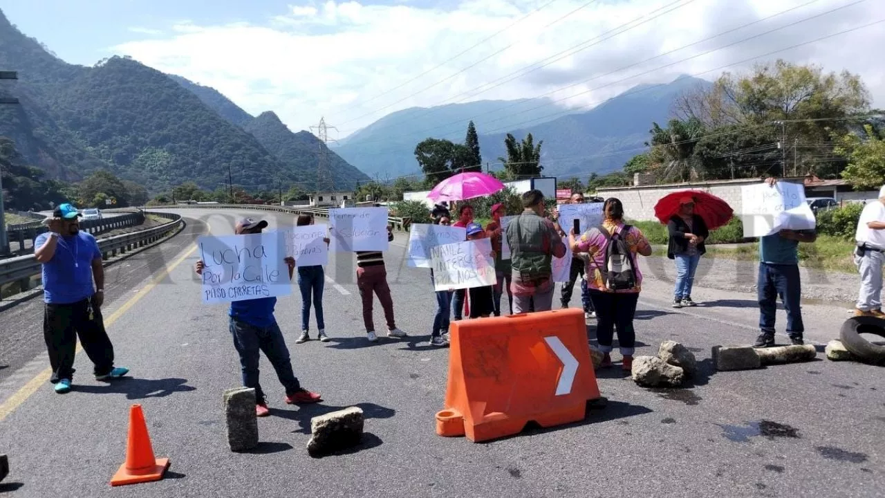
[[[252,117],[214,89],[131,58],[67,64],[22,35],[0,12],[0,67],[14,70],[19,105],[0,105],[0,136],[51,178],[78,181],[97,169],[151,192],[193,181],[247,191],[316,187],[325,149],[335,188],[368,176],[309,132],[292,133],[273,113]]]

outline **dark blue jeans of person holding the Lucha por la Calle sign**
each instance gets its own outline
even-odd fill
[[[242,385],[255,389],[255,400],[265,402],[265,392],[258,383],[258,360],[264,351],[267,359],[276,370],[280,383],[286,388],[286,394],[294,394],[301,390],[301,384],[292,371],[289,361],[289,348],[282,338],[282,332],[276,322],[269,327],[256,327],[235,318],[230,319],[230,333],[234,336],[236,352],[240,354],[242,369]]]

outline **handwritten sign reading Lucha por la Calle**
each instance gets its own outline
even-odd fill
[[[284,233],[199,237],[196,244],[206,265],[202,276],[203,302],[289,295],[289,268],[283,262]]]

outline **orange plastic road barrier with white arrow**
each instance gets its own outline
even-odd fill
[[[600,397],[581,309],[452,322],[436,433],[493,440],[583,420]]]

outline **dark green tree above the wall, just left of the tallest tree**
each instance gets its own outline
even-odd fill
[[[703,173],[701,164],[692,157],[695,145],[704,131],[701,121],[670,120],[666,128],[651,123],[650,160],[658,165],[659,177],[664,180],[696,180]]]

